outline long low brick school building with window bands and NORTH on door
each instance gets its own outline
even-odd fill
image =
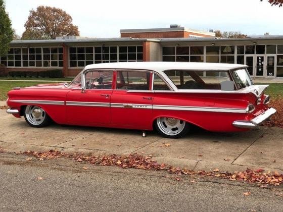
[[[221,39],[212,32],[170,28],[120,30],[120,38],[58,37],[15,40],[0,63],[7,71],[62,69],[75,76],[85,65],[132,61],[246,64],[252,77],[283,77],[283,36]],[[132,37],[127,37],[132,36]]]

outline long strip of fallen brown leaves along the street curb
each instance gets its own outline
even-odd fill
[[[1,149],[1,148],[0,148]],[[37,157],[40,161],[50,160],[53,158],[65,157],[70,158],[76,162],[88,163],[99,166],[117,166],[121,168],[135,168],[144,170],[167,170],[170,174],[176,175],[202,175],[202,176],[213,176],[218,178],[224,178],[228,180],[238,180],[251,183],[261,183],[269,185],[280,185],[283,184],[283,174],[278,172],[271,173],[270,171],[264,172],[262,169],[251,170],[247,169],[244,172],[221,172],[219,169],[214,169],[213,172],[206,171],[193,171],[187,169],[181,169],[176,167],[169,167],[165,164],[158,164],[156,161],[151,160],[152,156],[143,156],[139,154],[129,155],[103,155],[94,156],[92,154],[68,154],[58,150],[49,150],[47,152],[35,152],[25,151],[25,155]]]

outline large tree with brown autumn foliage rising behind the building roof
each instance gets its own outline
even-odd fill
[[[29,11],[22,39],[55,39],[56,36],[79,35],[72,17],[60,8],[37,7]]]

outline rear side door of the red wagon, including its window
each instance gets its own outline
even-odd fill
[[[117,85],[111,96],[112,125],[151,129],[154,93],[150,91],[152,73],[117,71]]]

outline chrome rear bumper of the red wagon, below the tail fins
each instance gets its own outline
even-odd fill
[[[274,108],[270,108],[251,121],[234,121],[233,126],[238,128],[259,129],[260,123],[264,122],[275,113],[276,110]]]

